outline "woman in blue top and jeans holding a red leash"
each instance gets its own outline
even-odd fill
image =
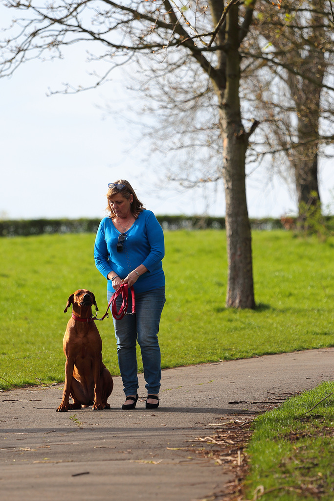
[[[165,254],[164,235],[155,215],[143,207],[128,181],[119,179],[109,183],[108,188],[110,215],[102,219],[97,231],[95,264],[108,280],[108,302],[123,283],[134,287],[136,303],[135,314],[114,319],[118,363],[126,396],[122,409],[134,409],[138,400],[137,339],[148,393],[146,408],[155,409],[159,406],[161,380],[158,332],[166,301],[161,263]]]

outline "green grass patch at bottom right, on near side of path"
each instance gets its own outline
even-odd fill
[[[255,490],[262,486],[263,494],[258,497],[263,501],[332,501],[333,391],[334,383],[324,382],[253,422],[255,431],[247,447],[250,472],[245,482],[246,499],[253,499]]]

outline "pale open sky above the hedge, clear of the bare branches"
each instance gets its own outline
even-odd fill
[[[118,178],[130,181],[156,214],[225,215],[222,182],[186,192],[171,183],[159,185],[157,159],[147,162],[143,145],[134,141],[138,126],[101,109],[109,99],[116,107],[122,101],[124,84],[117,74],[95,90],[46,96],[63,82],[88,82],[85,57],[83,49],[72,47],[65,60],[32,61],[11,79],[0,79],[0,218],[102,218],[108,182]],[[323,204],[334,188],[331,163],[320,170]],[[280,179],[268,182],[263,170],[255,171],[247,178],[249,216],[295,212],[288,191]]]

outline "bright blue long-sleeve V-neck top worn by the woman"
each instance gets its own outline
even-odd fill
[[[144,265],[147,272],[134,284],[135,292],[147,292],[165,285],[162,259],[165,255],[163,230],[151,210],[142,210],[133,225],[125,231],[123,251],[118,253],[116,245],[120,232],[110,217],[100,222],[95,238],[94,259],[99,272],[107,278],[114,271],[124,279],[137,266]],[[112,281],[107,289],[114,292]]]

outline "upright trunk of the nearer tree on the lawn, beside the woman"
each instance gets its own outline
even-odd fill
[[[237,28],[238,7],[232,7],[227,16],[226,24],[229,50],[225,52],[225,74],[221,80],[220,89],[217,90],[224,149],[223,178],[226,199],[225,221],[228,260],[226,306],[255,308],[251,231],[245,184],[245,155],[248,134],[241,123],[240,57]]]

